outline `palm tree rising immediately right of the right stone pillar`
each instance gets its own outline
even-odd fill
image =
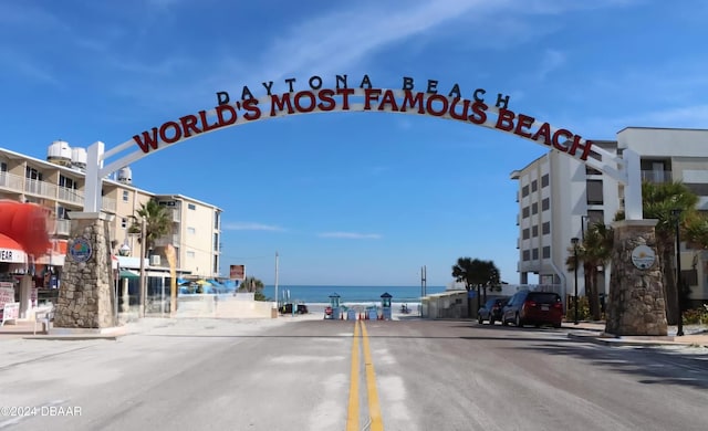
[[[676,223],[684,222],[696,211],[698,197],[681,182],[643,182],[642,202],[645,219],[658,220],[656,231],[656,248],[659,265],[664,274],[664,301],[666,303],[666,319],[669,325],[678,322],[677,280],[674,256],[676,255]],[[674,216],[674,210],[679,210]],[[678,217],[678,220],[676,219]]]

